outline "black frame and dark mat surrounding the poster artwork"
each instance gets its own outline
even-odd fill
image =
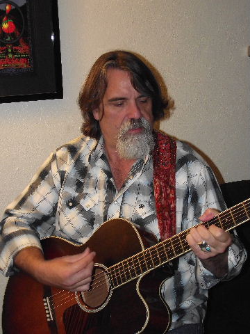
[[[0,70],[0,103],[62,99],[58,1],[6,0],[0,3],[17,1],[27,5],[26,29],[30,34],[32,69]]]

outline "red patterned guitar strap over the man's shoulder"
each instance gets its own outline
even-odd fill
[[[176,234],[176,141],[154,131],[153,187],[161,240]]]

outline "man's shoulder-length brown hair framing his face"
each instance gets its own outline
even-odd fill
[[[108,85],[107,71],[109,68],[127,71],[131,76],[133,88],[151,97],[153,120],[163,118],[169,99],[163,97],[158,81],[149,66],[131,52],[110,51],[100,56],[94,63],[78,97],[78,105],[83,116],[81,127],[83,134],[97,139],[101,135],[99,121],[94,119],[92,111],[97,109],[103,100]]]

